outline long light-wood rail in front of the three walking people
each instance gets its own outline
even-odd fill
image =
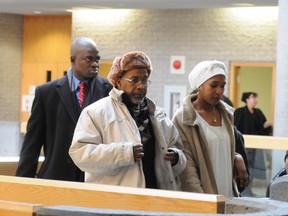
[[[167,190],[0,176],[0,200],[43,206],[224,213],[225,197]]]

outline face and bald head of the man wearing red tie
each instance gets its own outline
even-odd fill
[[[100,56],[93,44],[79,45],[71,56],[74,75],[81,81],[94,78],[99,72]]]

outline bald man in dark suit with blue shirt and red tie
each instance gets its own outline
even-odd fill
[[[106,97],[112,86],[97,76],[100,56],[92,39],[74,40],[70,61],[71,68],[64,77],[36,88],[16,176],[84,181],[83,172],[68,154],[74,128],[82,109]],[[83,104],[78,87],[81,82],[85,86]],[[37,173],[41,149],[45,159]]]

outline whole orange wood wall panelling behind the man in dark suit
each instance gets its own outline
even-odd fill
[[[29,112],[23,110],[23,96],[33,95],[33,87],[64,75],[70,66],[71,16],[25,16],[20,122]]]

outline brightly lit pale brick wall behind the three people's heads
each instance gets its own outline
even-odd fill
[[[128,10],[125,16],[114,11],[107,17],[102,10],[76,11],[72,38],[92,37],[102,59],[132,50],[146,52],[154,67],[148,96],[163,106],[164,85],[186,85],[189,92],[187,75],[199,61],[217,59],[227,67],[230,61],[275,61],[277,12],[266,12],[267,18],[265,10]],[[170,74],[171,55],[186,57],[184,75]]]

